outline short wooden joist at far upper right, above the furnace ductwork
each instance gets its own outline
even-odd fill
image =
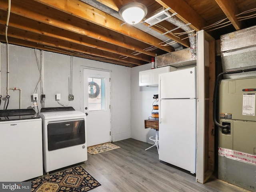
[[[234,0],[215,0],[217,4],[220,6],[222,11],[226,14],[232,25],[236,30],[240,30],[242,28],[242,22],[236,19],[236,14],[239,14],[238,7]]]

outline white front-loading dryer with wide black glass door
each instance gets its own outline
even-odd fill
[[[86,115],[72,107],[42,108],[46,173],[87,160]]]

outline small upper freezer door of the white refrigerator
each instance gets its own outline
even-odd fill
[[[196,98],[196,68],[159,75],[159,98]]]

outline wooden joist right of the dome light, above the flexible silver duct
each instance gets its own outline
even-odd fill
[[[203,27],[208,26],[207,22],[194,11],[184,0],[155,0],[164,8],[171,8],[169,11],[177,13],[177,17],[184,23],[191,23],[190,26],[199,31]]]

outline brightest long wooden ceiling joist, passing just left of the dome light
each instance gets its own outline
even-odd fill
[[[61,10],[70,15],[79,17],[83,20],[100,25],[104,28],[108,28],[115,32],[134,38],[138,41],[145,42],[149,45],[165,50],[166,52],[174,51],[174,48],[170,46],[161,46],[161,41],[150,34],[143,32],[131,25],[123,23],[121,20],[114,18],[113,16],[106,14],[105,12],[98,10],[80,0],[35,0],[38,3],[45,4],[54,9]]]

